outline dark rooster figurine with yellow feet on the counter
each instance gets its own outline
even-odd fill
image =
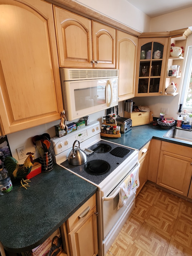
[[[7,156],[4,160],[4,165],[7,169],[7,172],[12,182],[13,180],[19,179],[21,180],[21,185],[24,188],[30,187],[28,183],[30,182],[30,180],[29,179],[24,180],[23,178],[30,173],[33,167],[34,153],[28,152],[26,155],[28,155],[28,157],[26,158],[24,164],[18,164],[18,161],[11,156]]]

